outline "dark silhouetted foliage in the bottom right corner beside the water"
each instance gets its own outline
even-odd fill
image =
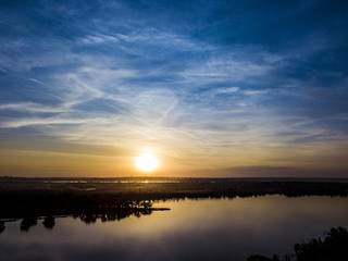
[[[307,243],[296,244],[294,254],[285,254],[279,259],[274,254],[266,258],[252,254],[248,261],[347,261],[348,260],[348,231],[344,227],[331,228],[325,232],[325,237],[313,238]]]

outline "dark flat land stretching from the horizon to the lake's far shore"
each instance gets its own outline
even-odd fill
[[[151,208],[153,200],[264,195],[347,197],[348,179],[0,177],[0,219],[100,214]]]

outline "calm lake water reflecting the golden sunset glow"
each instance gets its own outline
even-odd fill
[[[293,245],[348,227],[348,199],[330,197],[200,199],[159,202],[151,215],[85,224],[58,217],[28,232],[5,223],[0,260],[246,260],[290,253]]]

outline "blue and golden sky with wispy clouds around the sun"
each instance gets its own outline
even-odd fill
[[[335,0],[2,0],[0,175],[348,177],[347,24]]]

